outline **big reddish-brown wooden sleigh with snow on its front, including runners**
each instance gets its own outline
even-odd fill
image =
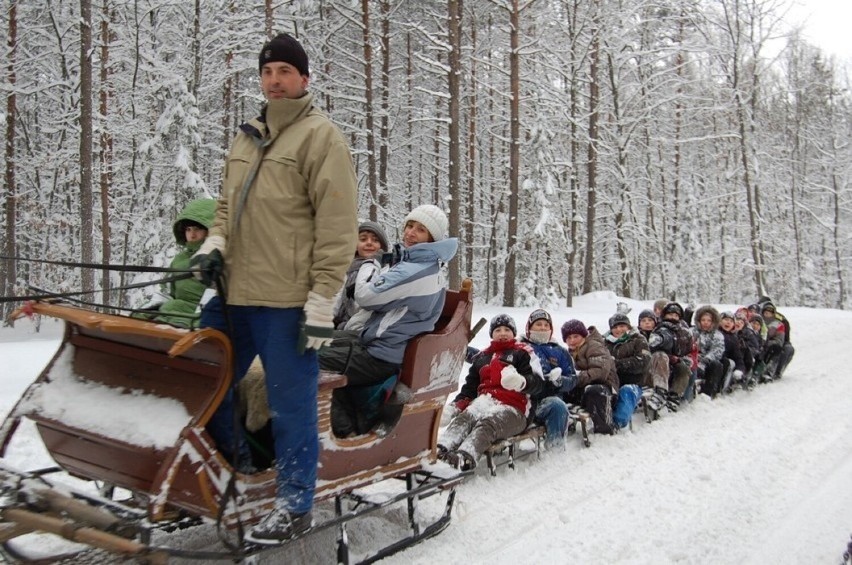
[[[467,473],[436,464],[436,443],[441,411],[457,387],[471,337],[471,286],[466,280],[461,290],[448,291],[436,329],[408,344],[400,381],[413,395],[387,435],[334,437],[331,394],[346,377],[320,376],[317,525],[307,535],[336,532],[338,562],[350,559],[347,527],[357,528],[357,518],[390,505],[407,514],[397,520],[408,522],[404,533],[358,559],[381,559],[449,524],[455,488]],[[175,556],[237,561],[269,551],[241,538],[272,509],[274,471],[235,472],[205,430],[231,385],[232,352],[224,334],[58,303],[30,303],[26,310],[64,320],[65,334],[0,428],[5,556],[24,560],[19,552],[26,543],[17,538],[31,532],[149,563]],[[18,470],[7,464],[23,419],[34,422],[58,467]],[[91,486],[56,480],[68,475]],[[380,496],[370,494],[377,484],[388,485]],[[438,511],[422,524],[418,502],[433,495],[441,496],[433,503]],[[202,523],[216,524],[221,550],[157,543],[159,532]]]

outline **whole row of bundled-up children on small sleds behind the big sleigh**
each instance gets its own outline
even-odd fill
[[[746,309],[733,315],[702,306],[695,328],[676,302],[658,301],[656,312],[640,312],[638,328],[621,306],[604,335],[580,320],[565,322],[562,339],[570,354],[552,340],[546,311],[530,314],[520,340],[510,316],[495,316],[491,343],[469,352],[465,383],[445,409],[439,456],[472,469],[493,442],[530,423],[545,426],[547,448],[560,446],[572,404],[589,413],[595,432],[612,433],[628,425],[643,390],[655,413],[663,407],[675,412],[691,400],[696,381],[715,397],[734,381],[777,378],[792,357],[785,326],[768,301],[755,308],[762,317],[752,312],[750,318]]]

